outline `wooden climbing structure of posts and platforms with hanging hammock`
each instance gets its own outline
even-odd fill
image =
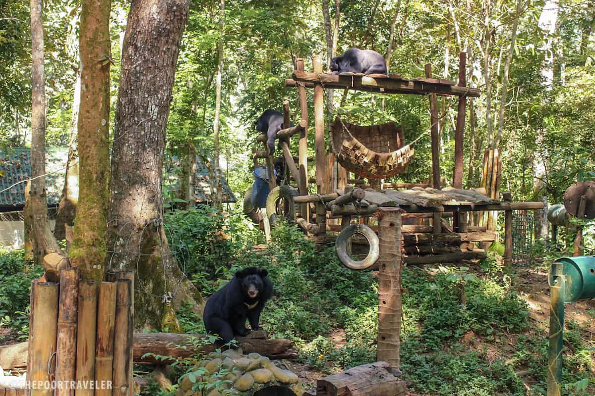
[[[291,175],[288,180],[295,180],[299,192],[299,196],[292,198],[293,203],[300,207],[296,212],[297,224],[320,243],[334,240],[336,236],[332,233],[345,229],[353,220],[362,224],[367,222],[378,232],[377,360],[388,363],[395,370],[400,366],[402,263],[421,265],[485,258],[486,244],[496,240],[497,234],[496,221],[484,214],[504,211],[505,263],[510,265],[512,211],[540,210],[544,207],[542,202],[513,202],[511,193],[503,193],[503,199],[500,199],[502,159],[498,157],[497,150],[486,154],[482,186],[477,189],[462,188],[466,98],[478,97],[480,91],[466,87],[465,53],[461,53],[459,61],[458,84],[433,78],[429,64],[425,65],[423,78],[408,79],[397,74],[330,75],[322,72],[318,56],[313,59],[311,72],[304,70],[303,59],[297,59],[292,78],[285,81],[286,87],[297,88],[301,111],[301,121],[289,128],[289,103],[284,103],[286,129],[277,134],[282,140],[283,160]],[[428,96],[432,154],[430,182],[381,185],[380,179],[403,172],[414,156],[412,143],[405,141],[402,130],[394,123],[359,126],[336,118],[328,126],[330,150],[327,150],[323,94],[327,88]],[[306,89],[314,90],[314,179],[308,178]],[[455,125],[455,166],[450,187],[443,185],[444,178],[440,175],[437,96],[459,97]],[[292,135],[299,135],[297,163],[289,150]],[[267,151],[265,135],[259,136],[258,141],[264,144],[264,150],[255,153],[255,159],[266,159],[270,175],[273,175],[273,159]],[[351,172],[354,178],[350,176]],[[315,194],[309,193],[309,182],[315,183]],[[349,183],[353,183],[353,186]],[[375,218],[378,218],[377,225],[370,221]],[[348,384],[343,384],[343,391],[337,391],[326,382],[321,384],[326,385],[318,388],[318,395],[351,394],[345,391],[350,389]],[[384,386],[386,381],[379,381],[367,391],[357,394],[389,394],[378,393]],[[329,390],[331,388],[334,390]],[[317,393],[312,391],[311,394]]]

